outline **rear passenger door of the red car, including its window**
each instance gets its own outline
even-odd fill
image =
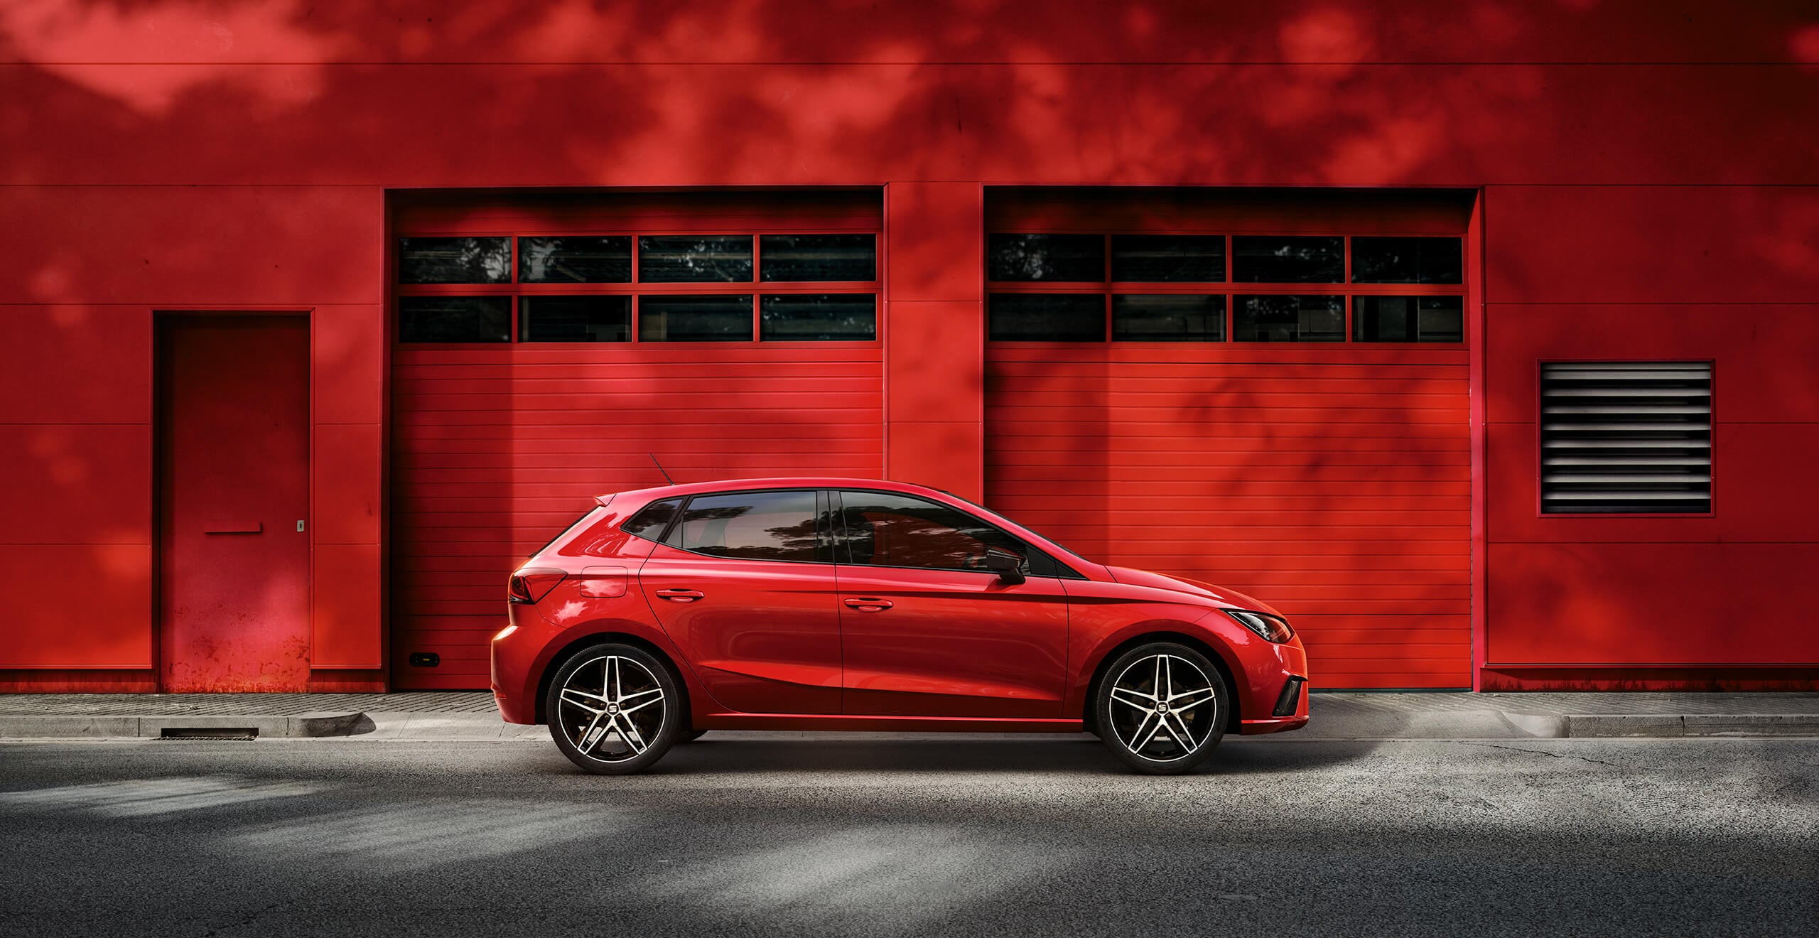
[[[833,564],[813,489],[697,494],[638,571],[669,638],[740,713],[840,713]]]

